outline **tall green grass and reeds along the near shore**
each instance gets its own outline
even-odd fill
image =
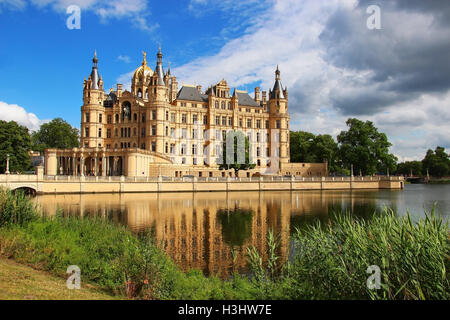
[[[112,294],[143,299],[449,299],[448,225],[430,214],[417,223],[392,212],[363,221],[338,214],[294,235],[294,258],[281,265],[278,239],[269,260],[249,250],[254,276],[223,281],[184,273],[150,235],[99,219],[45,218],[21,195],[0,191],[0,255],[65,276],[77,265],[83,281]],[[381,288],[366,286],[379,266]],[[11,279],[14,281],[14,279]]]

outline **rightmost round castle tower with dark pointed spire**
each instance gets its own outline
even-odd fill
[[[281,72],[278,66],[275,71],[275,84],[269,91],[269,117],[271,150],[279,157],[280,164],[288,163],[290,159],[288,92],[281,84]]]

